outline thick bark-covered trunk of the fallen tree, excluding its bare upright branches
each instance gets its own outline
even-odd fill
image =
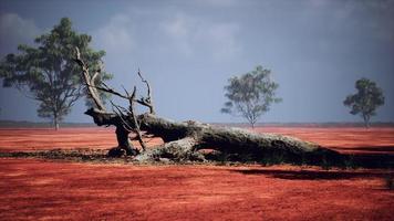
[[[89,115],[95,119],[96,124],[97,119],[107,119],[105,124],[115,123],[117,117],[105,115],[96,109],[90,109]],[[197,122],[177,123],[152,114],[138,115],[137,120],[143,131],[160,137],[165,141],[162,146],[139,152],[127,145],[128,133],[117,127],[116,137],[120,148],[132,148],[133,150],[128,152],[136,155],[135,160],[138,161],[164,158],[175,161],[204,160],[198,151],[200,149],[217,150],[239,161],[276,159],[283,162],[319,165],[324,160],[333,164],[343,160],[343,157],[334,150],[288,136],[257,134],[246,129],[219,127]],[[104,122],[97,125],[103,125]]]

